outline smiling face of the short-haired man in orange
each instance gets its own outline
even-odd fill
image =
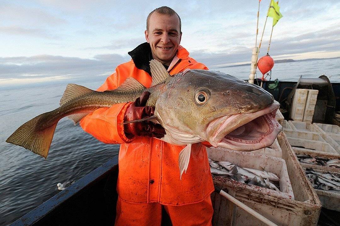
[[[181,42],[180,20],[177,15],[153,13],[145,38],[150,43],[152,57],[162,64],[170,65]]]

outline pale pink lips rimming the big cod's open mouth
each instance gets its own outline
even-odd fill
[[[252,151],[270,146],[282,130],[282,126],[275,119],[275,114],[279,106],[280,104],[274,101],[273,104],[265,109],[253,113],[229,115],[215,119],[209,123],[207,128],[208,134],[212,134],[208,140],[209,143],[214,147],[222,146],[240,151]],[[261,120],[266,122],[268,131],[261,134],[256,140],[233,139],[232,136],[229,136],[231,137],[230,139],[225,138],[235,129],[260,117],[262,117]],[[240,140],[240,142],[237,140]]]

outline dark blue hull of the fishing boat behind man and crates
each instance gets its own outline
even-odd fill
[[[315,86],[320,82],[322,83],[321,80],[325,80],[325,78],[312,79],[309,81],[309,84],[305,84],[306,81],[303,79],[298,83],[265,81],[263,87],[273,94],[275,100],[281,102],[283,115],[288,119],[286,106],[289,102],[286,100],[289,98],[289,94],[294,87],[298,87],[296,85],[299,85],[299,83],[302,87],[304,85]],[[255,80],[256,83],[257,81]],[[334,115],[334,112],[340,110],[340,83],[329,83],[329,85],[331,85],[335,94],[336,105],[333,109]],[[338,123],[333,117],[331,119],[324,118],[324,122],[328,122],[327,120],[331,120],[335,124]],[[118,197],[115,189],[117,177],[118,157],[115,157],[70,187],[60,191],[34,210],[10,224],[10,226],[114,225]],[[226,211],[228,210],[219,209],[218,214],[223,214]],[[322,208],[318,225],[339,225],[339,216],[340,212]],[[163,211],[162,225],[171,225],[171,221],[165,211]],[[218,225],[229,224],[221,224],[220,222]],[[297,223],[296,225],[300,224]]]

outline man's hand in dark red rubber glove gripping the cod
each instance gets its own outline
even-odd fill
[[[145,106],[150,96],[150,92],[145,91],[126,109],[124,122],[137,119],[144,119],[154,114],[154,107]],[[146,136],[162,138],[166,134],[165,129],[151,121],[133,122],[124,124],[125,136],[132,139],[134,136]]]

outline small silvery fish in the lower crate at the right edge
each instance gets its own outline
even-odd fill
[[[313,188],[320,190],[332,190],[340,192],[340,174],[334,172],[321,173],[313,169],[305,170],[307,178]]]

